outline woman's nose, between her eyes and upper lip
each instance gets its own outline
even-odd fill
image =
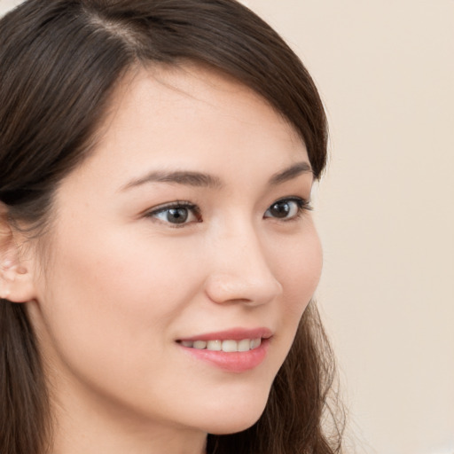
[[[252,227],[229,229],[210,247],[207,296],[216,303],[265,304],[282,293]]]

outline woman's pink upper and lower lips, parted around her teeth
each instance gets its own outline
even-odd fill
[[[244,329],[234,328],[217,333],[204,333],[184,339],[179,339],[177,345],[183,352],[196,361],[203,361],[226,372],[247,372],[262,364],[270,347],[272,332],[268,328]],[[243,340],[262,338],[260,347],[242,352],[224,352],[207,349],[184,347],[183,340]]]

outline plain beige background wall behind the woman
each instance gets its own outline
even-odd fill
[[[454,454],[454,0],[244,3],[299,53],[330,119],[317,299],[348,439]]]

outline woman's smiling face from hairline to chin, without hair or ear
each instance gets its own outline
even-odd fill
[[[251,426],[321,270],[305,146],[254,92],[189,66],[123,82],[101,132],[59,186],[27,303],[54,398]]]

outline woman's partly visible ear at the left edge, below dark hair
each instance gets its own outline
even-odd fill
[[[0,202],[0,298],[26,302],[35,298],[32,262],[22,256],[25,238],[10,223]]]

